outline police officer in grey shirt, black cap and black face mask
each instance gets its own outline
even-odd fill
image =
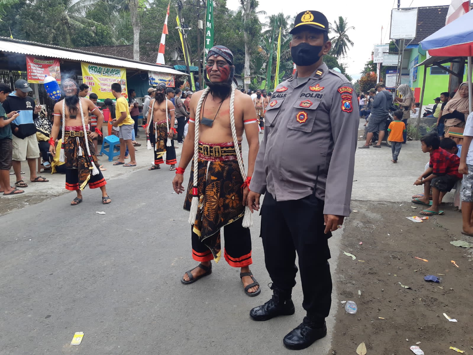
[[[250,311],[254,320],[294,314],[291,291],[299,259],[307,316],[284,337],[289,349],[304,349],[325,337],[332,279],[328,238],[350,214],[358,133],[358,101],[350,82],[329,70],[327,18],[298,14],[290,31],[297,71],[273,92],[266,111],[250,183],[248,206],[261,207],[261,237],[272,279],[271,300]]]

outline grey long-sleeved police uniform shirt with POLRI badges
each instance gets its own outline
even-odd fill
[[[350,82],[325,63],[307,78],[297,79],[296,72],[277,87],[266,107],[250,190],[289,201],[315,188],[315,196],[325,202],[324,214],[348,216],[358,111]]]

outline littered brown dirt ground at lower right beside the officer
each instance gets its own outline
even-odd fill
[[[455,354],[450,346],[473,354],[473,248],[450,244],[473,243],[473,238],[460,233],[461,213],[453,211],[453,205],[443,207],[445,215],[422,223],[405,218],[422,210],[412,205],[352,201],[352,210],[358,212],[346,222],[340,279],[334,280],[338,301],[333,304],[337,314],[332,354],[356,354],[361,342],[368,355],[413,354],[409,348],[417,342],[425,355]],[[442,280],[428,282],[426,275]],[[341,302],[349,300],[358,305],[356,314],[345,312]],[[458,322],[448,321],[443,313]]]

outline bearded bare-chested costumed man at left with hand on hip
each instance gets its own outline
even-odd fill
[[[66,189],[76,191],[77,197],[70,203],[75,206],[82,202],[82,190],[89,185],[90,188],[100,187],[102,203],[112,202],[105,189],[106,181],[97,167],[99,166],[94,144],[102,128],[104,115],[88,98],[79,98],[79,85],[67,79],[62,83],[65,98],[54,105],[54,123],[51,131],[49,151],[56,154],[56,140],[62,118],[62,144],[60,161],[66,166]],[[95,132],[88,130],[88,111],[97,116]]]

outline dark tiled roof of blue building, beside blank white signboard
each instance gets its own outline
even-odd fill
[[[449,5],[426,6],[418,8],[417,33],[411,44],[419,44],[429,35],[445,26]]]

